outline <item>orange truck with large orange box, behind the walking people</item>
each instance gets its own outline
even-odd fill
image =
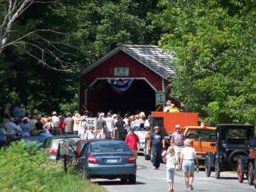
[[[151,112],[152,128],[158,125],[164,135],[171,136],[176,132],[175,125],[179,124],[183,127],[182,132],[187,139],[192,140],[193,148],[196,150],[198,160],[204,160],[206,151],[216,150],[216,127],[207,127],[202,124],[198,126],[198,113],[193,112]],[[146,142],[149,139],[151,131],[146,135]],[[169,146],[170,137],[166,137],[166,146]],[[150,151],[145,144],[145,159],[151,159]]]

